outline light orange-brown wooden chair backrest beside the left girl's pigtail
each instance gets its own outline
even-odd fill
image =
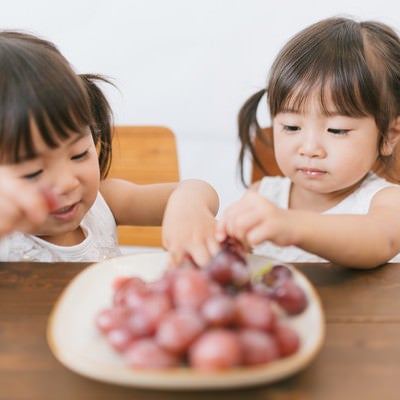
[[[115,126],[111,178],[138,184],[179,181],[174,133],[163,126]],[[120,245],[161,246],[161,228],[119,226]]]

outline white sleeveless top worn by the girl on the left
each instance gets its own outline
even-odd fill
[[[97,262],[121,255],[114,216],[98,193],[84,216],[85,239],[74,246],[58,246],[39,237],[13,232],[0,239],[0,261],[83,261]]]

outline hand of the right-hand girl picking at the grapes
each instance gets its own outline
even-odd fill
[[[234,237],[250,247],[270,240],[280,246],[293,244],[290,212],[276,207],[258,193],[249,191],[222,214],[216,239]]]

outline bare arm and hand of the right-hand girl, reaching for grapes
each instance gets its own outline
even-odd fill
[[[400,189],[378,192],[368,214],[324,215],[282,210],[248,192],[223,214],[217,237],[235,236],[251,246],[270,240],[294,245],[334,263],[373,268],[400,252]]]

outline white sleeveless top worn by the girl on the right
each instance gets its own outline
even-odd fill
[[[289,194],[291,182],[289,178],[281,176],[264,177],[258,189],[258,192],[274,203],[276,206],[288,209]],[[372,198],[381,189],[397,186],[393,183],[378,177],[370,172],[363,180],[362,184],[329,210],[322,214],[367,214]],[[308,253],[295,246],[280,247],[271,242],[264,242],[256,246],[253,250],[255,254],[275,258],[284,262],[324,262],[327,261],[315,254]],[[400,254],[390,260],[390,262],[399,262]]]

